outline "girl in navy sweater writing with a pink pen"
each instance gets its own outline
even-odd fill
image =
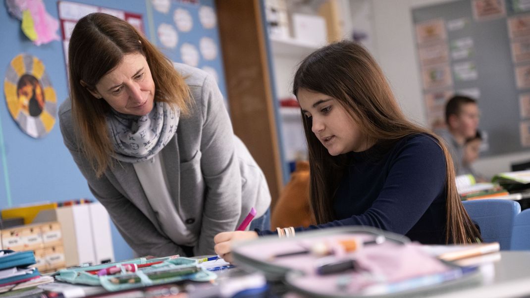
[[[218,255],[232,261],[232,240],[342,225],[369,225],[429,244],[480,239],[443,141],[405,118],[366,49],[342,41],[313,52],[296,72],[293,93],[308,143],[317,224],[219,233]]]

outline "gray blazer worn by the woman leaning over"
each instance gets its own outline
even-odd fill
[[[177,212],[198,235],[193,253],[211,255],[214,236],[235,230],[251,207],[257,217],[266,212],[270,193],[261,169],[233,133],[215,80],[187,65],[175,64],[175,69],[184,76],[193,104],[191,114],[180,118],[175,136],[160,152],[162,166]],[[66,100],[59,107],[64,143],[123,238],[139,255],[185,255],[162,231],[132,164],[114,160],[101,178],[95,177],[79,150],[71,106]]]

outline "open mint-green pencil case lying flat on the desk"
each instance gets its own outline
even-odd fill
[[[125,270],[125,264],[137,265],[154,264],[138,268],[134,272]],[[95,272],[106,268],[119,268],[120,271],[108,275],[98,275]],[[89,267],[77,267],[58,271],[56,279],[62,282],[84,285],[101,285],[107,291],[121,291],[130,288],[173,283],[184,280],[207,282],[217,278],[217,275],[198,266],[195,259],[184,257],[166,257],[149,259],[137,258],[112,264],[102,264]]]

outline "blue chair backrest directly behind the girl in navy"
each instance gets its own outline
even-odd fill
[[[484,242],[499,242],[501,250],[509,250],[519,203],[510,200],[483,199],[462,202],[471,219],[479,224]]]

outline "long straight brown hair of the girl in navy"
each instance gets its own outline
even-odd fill
[[[329,44],[307,56],[294,77],[293,93],[300,89],[331,96],[350,114],[368,140],[392,145],[416,133],[436,139],[446,160],[446,242],[470,243],[481,239],[456,191],[453,161],[444,142],[409,121],[400,109],[383,71],[357,43]],[[334,220],[331,200],[346,168],[345,155],[331,156],[312,132],[311,119],[302,114],[310,161],[311,206],[317,223]]]

